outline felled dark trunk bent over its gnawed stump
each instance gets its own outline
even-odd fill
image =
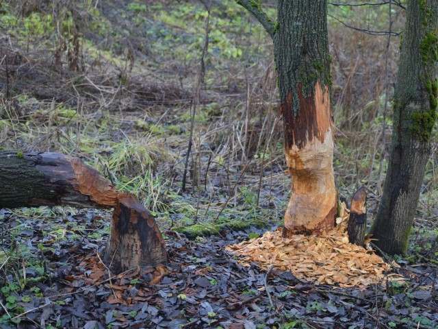
[[[153,216],[77,158],[57,153],[0,151],[0,208],[114,208],[104,262],[116,273],[166,263]]]

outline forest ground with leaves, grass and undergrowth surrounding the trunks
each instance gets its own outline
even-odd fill
[[[110,212],[0,210],[0,328],[438,328],[436,140],[408,254],[383,258],[382,280],[344,287],[247,262],[227,246],[279,228],[291,184],[261,27],[213,1],[204,71],[201,2],[18,2],[0,2],[0,147],[80,157],[179,234],[165,236],[166,267],[115,276],[99,257]],[[329,23],[337,187],[347,206],[367,188],[371,222],[398,42],[385,62],[386,39]]]

